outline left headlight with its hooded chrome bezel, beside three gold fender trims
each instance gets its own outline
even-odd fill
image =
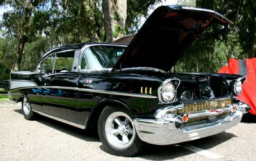
[[[178,82],[174,84],[175,81],[178,81]],[[176,78],[166,79],[166,81],[164,81],[163,84],[161,84],[161,86],[157,90],[159,101],[164,104],[170,104],[174,102],[176,100],[177,88],[179,84],[180,84],[179,79],[176,79]]]

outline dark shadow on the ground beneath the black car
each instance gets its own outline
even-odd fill
[[[14,111],[18,112],[19,114],[22,114],[21,109],[16,109]],[[72,135],[73,137],[77,137],[83,141],[100,141],[96,129],[81,130],[79,128],[72,127],[65,123],[61,123],[59,121],[44,116],[37,116],[35,121],[37,121],[38,123],[42,123],[50,128],[54,128],[61,132],[65,132],[65,134]],[[136,157],[144,158],[147,160],[170,160],[180,157],[185,159],[186,155],[194,153],[193,151],[189,151],[182,148],[182,146],[186,144],[190,144],[198,148],[208,150],[213,148],[214,146],[217,146],[218,144],[221,144],[225,141],[228,141],[229,139],[232,139],[232,137],[236,137],[236,135],[227,132],[222,132],[220,134],[198,139],[196,141],[189,141],[175,145],[156,146],[152,144],[146,144],[145,149],[142,151],[142,153],[140,153],[140,155]],[[102,145],[100,146],[100,150],[106,151],[106,149]]]

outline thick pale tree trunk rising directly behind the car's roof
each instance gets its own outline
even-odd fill
[[[106,42],[113,42],[125,34],[127,0],[102,0]]]

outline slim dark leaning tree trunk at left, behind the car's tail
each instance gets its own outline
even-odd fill
[[[16,58],[16,61],[13,63],[12,71],[20,70],[20,62],[22,59],[23,50],[26,42],[28,42],[27,32],[30,26],[30,18],[31,18],[31,13],[33,8],[34,8],[33,1],[29,0],[28,6],[24,8],[25,17],[22,23],[22,28],[19,31],[19,44],[18,44],[18,50],[16,54],[17,58]]]

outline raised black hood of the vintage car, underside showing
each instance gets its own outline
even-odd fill
[[[212,22],[232,24],[216,11],[160,6],[134,36],[113,70],[150,67],[168,71]]]

